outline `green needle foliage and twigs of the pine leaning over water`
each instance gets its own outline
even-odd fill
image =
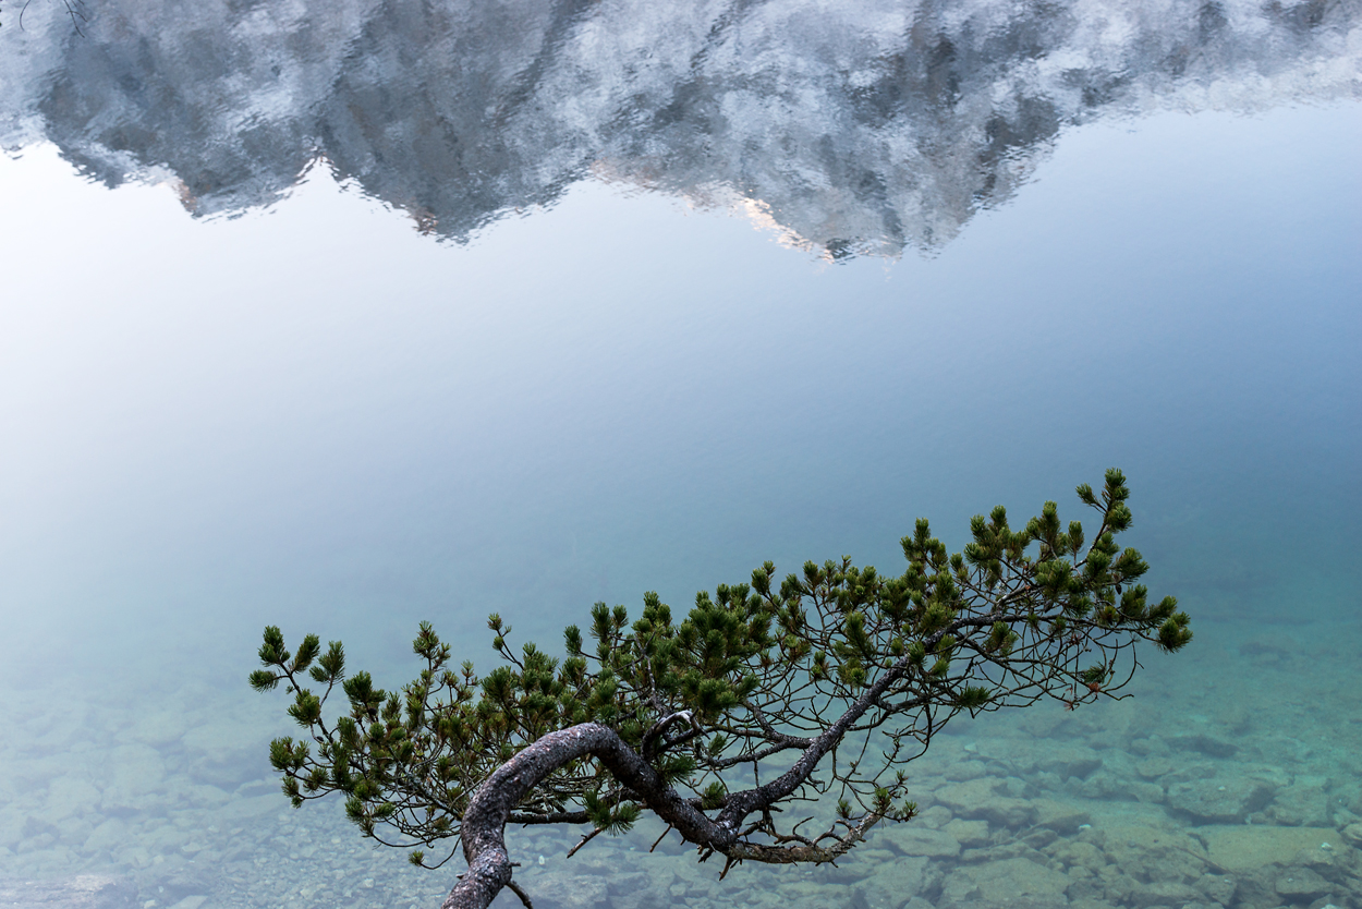
[[[271,743],[270,762],[296,805],[339,792],[365,835],[432,845],[458,837],[470,795],[496,767],[575,724],[614,729],[682,797],[719,811],[737,770],[783,773],[855,714],[842,732],[854,741],[838,748],[859,756],[810,766],[791,799],[827,796],[844,829],[903,820],[917,807],[903,801],[902,767],[955,714],[1120,696],[1136,642],[1175,651],[1192,639],[1177,600],[1151,604],[1137,583],[1148,564],[1117,544],[1133,521],[1129,495],[1118,470],[1100,492],[1080,485],[1079,500],[1096,512],[1091,529],[1061,522],[1053,502],[1013,529],[1000,506],[970,522],[959,553],[921,519],[902,540],[898,575],[843,557],[778,579],[768,561],[745,583],[699,593],[680,617],[655,593],[635,617],[598,602],[584,627],[564,631],[563,657],[515,646],[493,613],[500,662],[481,676],[470,662],[455,666],[451,647],[421,623],[413,653],[422,668],[396,691],[366,672],[347,675],[339,642],[323,651],[308,635],[294,654],[270,626],[251,685],[283,681],[287,713],[306,730]],[[334,695],[345,700],[339,713],[328,710]],[[584,759],[554,770],[512,820],[620,833],[646,810]],[[744,835],[790,842],[771,818]],[[425,852],[411,859],[419,864]]]

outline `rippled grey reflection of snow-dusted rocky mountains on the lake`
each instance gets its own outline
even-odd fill
[[[1357,0],[108,0],[83,35],[38,5],[0,29],[4,146],[196,214],[320,161],[455,240],[594,176],[896,255],[1068,124],[1362,95]]]

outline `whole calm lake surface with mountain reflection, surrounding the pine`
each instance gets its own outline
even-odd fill
[[[1136,698],[957,721],[839,868],[518,874],[1362,909],[1357,1],[75,10],[0,5],[0,895],[439,905],[276,793],[264,624],[396,684],[1115,465],[1197,634]]]

